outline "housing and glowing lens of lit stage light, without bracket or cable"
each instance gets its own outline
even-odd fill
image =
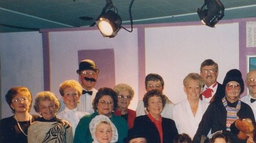
[[[99,20],[95,21],[103,37],[115,37],[121,29],[122,19],[112,10],[108,10]]]

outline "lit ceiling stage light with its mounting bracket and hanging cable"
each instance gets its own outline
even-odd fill
[[[122,27],[122,19],[118,15],[117,8],[113,6],[111,0],[106,0],[106,6],[103,8],[100,16],[97,18],[95,21],[97,27],[99,28],[101,34],[103,37],[109,37],[113,38],[117,35],[117,32],[123,28],[124,30],[128,32],[133,31],[133,19],[132,19],[132,14],[131,14],[131,8],[133,5],[134,0],[131,1],[131,4],[129,6],[129,15],[130,15],[130,21],[131,21],[131,31],[125,29]],[[108,11],[106,12],[106,10]],[[111,10],[111,9],[114,9]]]

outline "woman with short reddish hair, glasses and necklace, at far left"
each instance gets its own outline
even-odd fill
[[[5,99],[14,115],[0,121],[0,142],[28,142],[28,126],[39,118],[38,115],[29,114],[31,92],[24,86],[12,87]]]

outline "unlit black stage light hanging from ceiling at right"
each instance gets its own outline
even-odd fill
[[[197,14],[204,25],[213,28],[223,18],[224,10],[220,0],[205,0],[205,4],[197,9]]]

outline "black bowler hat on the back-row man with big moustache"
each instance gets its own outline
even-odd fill
[[[94,61],[89,60],[89,59],[82,60],[79,63],[79,69],[77,70],[77,74],[79,74],[80,71],[86,70],[86,69],[95,70],[96,73],[99,73],[99,71],[100,71],[99,69],[97,69]]]

